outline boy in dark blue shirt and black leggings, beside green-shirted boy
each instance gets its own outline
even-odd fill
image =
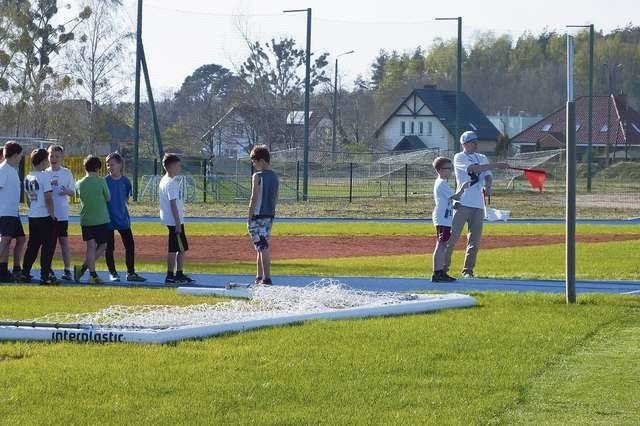
[[[131,196],[131,181],[122,175],[122,156],[113,152],[107,155],[107,172],[109,175],[105,178],[109,187],[111,200],[107,203],[109,209],[109,232],[107,233],[107,250],[105,252],[105,260],[107,268],[109,268],[109,278],[112,282],[119,282],[120,276],[116,270],[116,263],[113,257],[115,249],[115,231],[117,230],[122,239],[125,253],[125,263],[127,265],[127,281],[144,282],[145,278],[136,274],[135,269],[135,243],[133,241],[133,233],[131,232],[131,218],[129,217],[129,209],[127,207],[129,197]]]

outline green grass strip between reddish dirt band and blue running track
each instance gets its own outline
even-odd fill
[[[591,280],[640,280],[640,240],[583,243],[576,250],[576,276]],[[620,253],[624,253],[621,256]],[[462,269],[464,253],[453,255],[452,271]],[[564,278],[564,245],[509,247],[480,250],[476,275],[479,278]],[[594,261],[602,259],[602,261]],[[164,262],[138,263],[139,271],[163,272]],[[251,274],[253,262],[206,262],[187,260],[190,273]],[[344,257],[332,259],[289,259],[273,261],[273,274],[312,276],[427,277],[431,275],[431,254]]]

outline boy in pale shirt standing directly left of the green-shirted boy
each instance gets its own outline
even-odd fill
[[[60,278],[71,281],[73,275],[71,274],[71,253],[69,251],[69,197],[76,193],[76,182],[71,170],[62,166],[64,148],[60,145],[51,145],[48,151],[50,167],[47,168],[47,171],[51,176],[53,210],[56,217],[54,226],[64,262],[64,272]]]

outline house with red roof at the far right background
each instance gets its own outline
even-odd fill
[[[576,99],[576,151],[580,156],[589,144],[589,98]],[[565,105],[511,138],[521,152],[566,146]],[[640,114],[629,106],[626,95],[593,97],[592,147],[596,155],[626,157],[640,150]],[[638,155],[638,154],[635,154]]]

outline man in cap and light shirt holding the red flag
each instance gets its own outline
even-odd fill
[[[462,144],[462,152],[453,156],[457,188],[462,188],[465,183],[468,183],[469,187],[460,197],[460,202],[454,207],[456,214],[451,224],[451,239],[447,245],[444,270],[445,272],[449,270],[453,249],[466,223],[469,234],[462,277],[469,279],[474,278],[473,268],[476,264],[480,239],[482,238],[484,196],[491,195],[491,184],[493,183],[491,170],[504,169],[508,165],[506,163],[491,164],[486,155],[477,153],[478,135],[473,131],[464,132],[460,136],[460,144]]]

